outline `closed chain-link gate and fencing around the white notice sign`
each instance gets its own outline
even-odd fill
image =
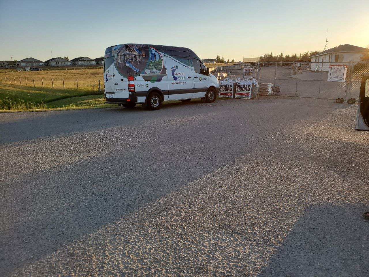
[[[344,82],[328,81],[329,65],[346,65]],[[305,98],[358,99],[361,77],[369,74],[369,62],[259,62],[259,83],[272,83],[275,94]],[[323,69],[323,70],[322,70]],[[279,87],[279,89],[278,89]],[[279,92],[277,92],[279,90]]]

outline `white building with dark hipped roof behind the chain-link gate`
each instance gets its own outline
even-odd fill
[[[369,50],[351,44],[339,45],[311,56],[311,70],[328,71],[330,64],[346,64],[351,60],[360,61],[360,57]]]

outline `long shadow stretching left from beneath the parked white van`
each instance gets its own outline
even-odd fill
[[[119,107],[115,109],[27,112],[28,119],[0,123],[0,133],[3,134],[0,136],[0,145],[22,140],[68,136],[74,133],[122,126],[133,122],[136,120],[133,117],[137,116],[142,117],[142,120],[150,119],[153,116],[159,118],[164,116],[172,117],[173,114],[168,114],[168,111],[171,110],[170,108],[180,109],[183,107],[184,109],[188,109],[189,107],[196,106],[200,108],[204,105],[216,105],[216,102],[201,103],[201,100],[192,100],[189,103],[182,103],[180,101],[171,101],[169,103],[163,103],[162,108],[158,111],[150,111],[142,108],[141,105],[137,105],[134,109]],[[121,116],[128,117],[122,118]],[[14,117],[16,117],[15,114]]]

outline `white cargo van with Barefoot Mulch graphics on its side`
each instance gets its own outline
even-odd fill
[[[148,44],[108,47],[104,58],[105,103],[158,110],[163,101],[202,98],[214,102],[218,79],[188,48]]]

